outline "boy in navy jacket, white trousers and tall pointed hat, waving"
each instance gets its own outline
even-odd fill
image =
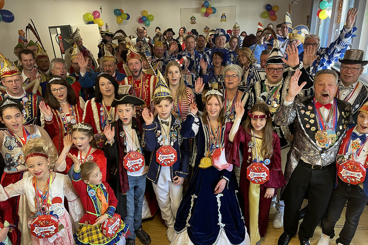
[[[147,178],[152,181],[171,242],[191,152],[188,139],[180,135],[183,120],[171,113],[173,97],[161,78],[156,84],[153,105],[158,112],[156,116],[147,108],[142,112],[145,121],[142,146],[152,152]]]

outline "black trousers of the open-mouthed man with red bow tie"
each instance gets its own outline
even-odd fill
[[[308,194],[308,211],[299,227],[299,238],[308,241],[326,212],[336,177],[336,165],[325,169],[311,169],[299,162],[291,174],[283,193],[284,232],[294,236],[298,230],[299,210],[305,194]]]

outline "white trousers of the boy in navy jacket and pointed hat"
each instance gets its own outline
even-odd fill
[[[174,228],[176,212],[183,198],[183,185],[171,182],[170,167],[162,166],[157,184],[152,183],[162,219],[169,228]]]

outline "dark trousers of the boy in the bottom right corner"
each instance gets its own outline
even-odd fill
[[[336,239],[336,244],[339,242],[344,245],[350,244],[357,230],[360,216],[368,201],[367,195],[365,195],[364,190],[359,185],[348,184],[338,178],[337,187],[332,192],[322,223],[323,234],[329,235],[330,238],[335,236],[335,224],[340,219],[346,201],[345,223],[340,231],[339,238]]]

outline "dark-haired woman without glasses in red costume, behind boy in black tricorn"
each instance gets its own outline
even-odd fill
[[[101,134],[107,124],[118,119],[116,108],[111,106],[118,89],[119,84],[112,75],[100,73],[97,76],[95,98],[86,102],[83,113],[83,122],[93,127],[93,133]]]

